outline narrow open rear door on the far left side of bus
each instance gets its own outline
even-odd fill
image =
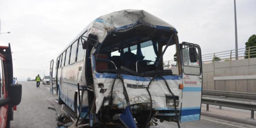
[[[57,94],[57,86],[53,76],[53,67],[54,67],[54,60],[50,62],[50,94],[56,95]]]

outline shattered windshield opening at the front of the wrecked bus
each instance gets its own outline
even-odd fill
[[[145,26],[111,33],[95,55],[96,71],[136,76],[154,76],[159,72],[172,75],[170,70],[163,70],[166,55],[163,56],[162,53],[168,42],[169,46],[175,47],[173,35],[171,31],[149,29]],[[169,53],[167,49],[166,54]],[[176,50],[171,53],[176,53]],[[171,59],[170,56],[173,55],[167,56]]]

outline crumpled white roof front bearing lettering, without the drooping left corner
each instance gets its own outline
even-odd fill
[[[144,10],[121,10],[112,12],[101,16],[93,22],[100,22],[104,24],[104,28],[111,30],[129,29],[138,24],[149,26],[152,28],[169,29],[176,31],[176,29],[167,22],[158,17],[144,11]]]

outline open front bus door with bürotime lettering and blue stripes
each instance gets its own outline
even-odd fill
[[[180,121],[200,119],[202,98],[201,48],[193,43],[182,42],[183,90]]]

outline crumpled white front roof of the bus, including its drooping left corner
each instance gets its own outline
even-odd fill
[[[100,16],[91,22],[88,26],[88,31],[91,34],[97,35],[99,42],[102,42],[107,36],[108,31],[125,31],[140,24],[152,28],[177,32],[171,24],[168,24],[162,19],[159,19],[144,10],[133,9],[121,10]]]

